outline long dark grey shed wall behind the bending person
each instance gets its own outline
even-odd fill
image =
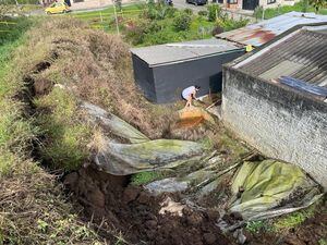
[[[153,68],[155,77],[156,101],[172,102],[181,99],[184,88],[201,86],[198,96],[209,91],[221,91],[222,64],[228,63],[244,53],[244,50],[233,50],[211,57],[199,58],[178,63]]]

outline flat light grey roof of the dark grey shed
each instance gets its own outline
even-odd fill
[[[238,49],[240,49],[238,45],[231,41],[211,38],[149,46],[144,48],[133,48],[131,49],[131,52],[147,62],[149,65],[159,65],[165,63],[198,59],[201,57]]]

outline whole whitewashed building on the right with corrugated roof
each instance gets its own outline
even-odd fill
[[[223,124],[327,189],[327,23],[305,26],[223,68]]]

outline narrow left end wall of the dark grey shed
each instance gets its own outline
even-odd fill
[[[156,101],[156,90],[153,70],[146,62],[141,60],[135,54],[132,54],[134,79],[138,88],[143,91],[144,96],[150,100]]]

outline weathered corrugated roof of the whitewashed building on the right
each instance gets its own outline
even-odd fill
[[[261,54],[239,69],[264,79],[291,76],[306,83],[327,87],[327,25],[325,28],[302,28],[288,38],[271,44]],[[254,56],[253,56],[254,57]]]

